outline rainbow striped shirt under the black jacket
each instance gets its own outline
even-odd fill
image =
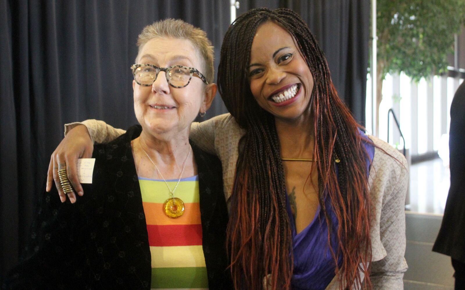
[[[174,188],[178,180],[166,180]],[[152,256],[151,289],[208,289],[199,206],[198,176],[181,179],[174,197],[185,212],[169,218],[163,204],[169,198],[163,180],[139,177]]]

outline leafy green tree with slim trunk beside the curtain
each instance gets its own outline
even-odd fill
[[[447,70],[454,34],[465,23],[465,0],[377,0],[376,6],[376,116],[379,116],[387,73],[403,71],[419,81]]]

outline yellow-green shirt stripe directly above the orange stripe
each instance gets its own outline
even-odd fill
[[[167,181],[168,186],[173,189],[177,181]],[[165,203],[170,197],[168,188],[164,181],[139,180],[142,201],[153,203]],[[174,197],[181,199],[184,203],[199,202],[199,181],[179,182]]]

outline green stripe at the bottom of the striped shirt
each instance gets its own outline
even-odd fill
[[[208,288],[206,267],[152,268],[152,288]]]

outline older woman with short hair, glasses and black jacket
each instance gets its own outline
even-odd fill
[[[77,206],[44,195],[29,256],[7,289],[231,287],[221,164],[188,138],[216,93],[213,47],[174,19],[145,27],[138,46],[140,125],[94,146],[93,183]]]

